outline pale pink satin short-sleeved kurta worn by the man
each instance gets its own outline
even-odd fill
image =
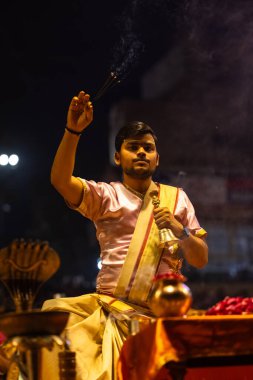
[[[96,227],[102,261],[102,268],[97,276],[97,292],[113,294],[142,207],[142,199],[121,182],[108,184],[83,179],[81,181],[84,184],[84,196],[79,207],[75,209],[92,220]],[[202,230],[194,207],[182,189],[179,189],[175,215],[193,234]],[[167,271],[165,252],[158,273]]]

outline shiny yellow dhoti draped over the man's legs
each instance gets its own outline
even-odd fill
[[[120,349],[128,334],[127,322],[117,320],[99,303],[99,295],[48,300],[43,310],[70,312],[66,332],[76,352],[76,380],[115,380]],[[42,380],[58,380],[58,352],[43,350]]]

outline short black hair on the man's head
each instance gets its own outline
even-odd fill
[[[157,143],[157,137],[149,125],[143,123],[142,121],[130,121],[126,123],[122,128],[120,128],[115,137],[116,152],[120,151],[121,145],[125,139],[128,139],[129,137],[146,135],[148,133],[153,136],[155,143]]]

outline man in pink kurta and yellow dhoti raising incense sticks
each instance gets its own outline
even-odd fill
[[[128,334],[126,321],[138,313],[150,314],[153,277],[179,271],[182,258],[204,267],[208,248],[206,232],[184,191],[152,181],[159,155],[157,138],[146,124],[129,123],[116,136],[114,159],[122,168],[122,183],[73,176],[78,141],[92,119],[89,95],[81,91],[69,106],[51,182],[70,207],[96,226],[102,260],[96,293],[49,300],[44,309],[70,312],[67,331],[77,355],[77,380],[111,380],[116,379],[117,358]],[[152,192],[159,198],[155,207]],[[170,229],[176,239],[169,248],[160,248],[163,229]],[[46,372],[51,368],[44,367]],[[56,379],[57,369],[50,371],[43,378]]]

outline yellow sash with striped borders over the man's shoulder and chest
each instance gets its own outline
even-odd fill
[[[160,206],[174,212],[178,189],[151,182],[143,200],[128,253],[121,269],[114,295],[140,305],[147,304],[152,280],[158,269],[163,249],[159,248],[159,230],[154,221],[150,192],[160,192]]]

